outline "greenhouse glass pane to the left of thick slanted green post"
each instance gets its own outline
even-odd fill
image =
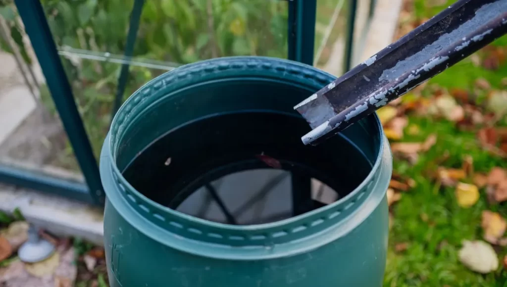
[[[20,22],[2,21],[0,164],[83,181]]]

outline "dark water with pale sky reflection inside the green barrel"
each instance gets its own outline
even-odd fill
[[[261,224],[293,217],[350,193],[372,164],[346,138],[304,146],[301,118],[216,115],[179,126],[123,171],[148,198],[199,218]]]

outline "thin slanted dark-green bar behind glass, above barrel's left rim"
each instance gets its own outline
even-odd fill
[[[134,6],[132,7],[132,13],[130,14],[130,23],[127,33],[127,43],[125,44],[124,58],[132,57],[132,54],[134,52],[134,44],[135,39],[137,38],[137,30],[139,29],[139,20],[141,19],[143,5],[144,0],[135,0]],[[113,106],[113,111],[111,111],[111,119],[113,119],[114,115],[116,115],[116,112],[118,109],[120,109],[120,106],[123,102],[123,94],[125,93],[125,87],[127,86],[129,66],[130,65],[128,63],[122,64],[120,76],[118,77],[118,89],[116,91],[115,103]]]

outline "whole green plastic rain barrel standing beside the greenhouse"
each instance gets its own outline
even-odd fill
[[[377,116],[317,147],[300,140],[310,128],[293,106],[333,79],[298,62],[230,57],[136,91],[100,156],[111,286],[382,285],[392,157]],[[316,178],[338,200],[296,206],[296,195],[291,216],[235,224],[178,210],[203,183],[256,168],[287,170],[294,190]],[[235,200],[248,178],[229,187]]]

